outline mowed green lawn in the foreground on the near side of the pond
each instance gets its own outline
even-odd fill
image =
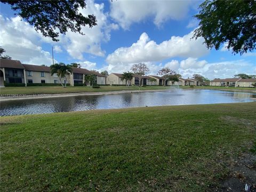
[[[256,151],[255,119],[256,102],[1,117],[1,191],[209,191]]]

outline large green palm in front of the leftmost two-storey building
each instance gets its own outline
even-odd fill
[[[55,63],[50,66],[51,68],[51,75],[57,74],[60,78],[60,83],[63,87],[67,85],[67,75],[72,73],[72,68],[70,65],[65,65],[65,63]],[[63,85],[61,78],[65,77],[65,85]]]

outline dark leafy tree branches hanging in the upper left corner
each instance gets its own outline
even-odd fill
[[[58,42],[59,33],[66,34],[68,29],[72,32],[83,34],[82,26],[97,25],[95,16],[84,17],[79,12],[79,8],[86,8],[85,1],[4,1],[11,5],[15,15],[33,25],[36,31],[40,31],[43,36],[52,38]],[[58,31],[58,32],[57,32]]]

